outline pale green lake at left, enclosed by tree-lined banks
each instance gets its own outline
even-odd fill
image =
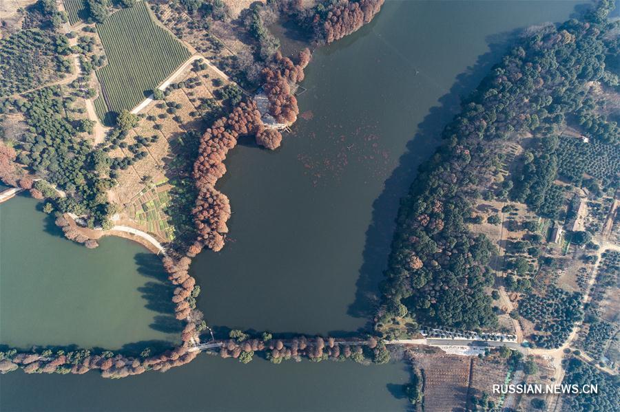
[[[119,349],[180,341],[161,259],[108,237],[67,241],[23,195],[0,204],[0,344]]]

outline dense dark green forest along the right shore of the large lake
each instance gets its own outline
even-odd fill
[[[603,78],[606,56],[617,52],[617,37],[607,35],[613,7],[603,1],[583,21],[530,32],[462,102],[462,112],[444,129],[444,144],[420,166],[402,199],[378,329],[390,333],[402,322],[495,325],[484,292],[493,280],[488,262],[495,250],[466,226],[473,202],[486,189],[479,185],[495,148],[508,138],[532,135],[532,153],[514,173],[510,197],[553,215],[559,129],[580,111],[592,111],[584,85]],[[614,144],[610,138],[604,143]]]

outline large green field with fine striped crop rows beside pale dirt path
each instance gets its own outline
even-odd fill
[[[108,64],[96,71],[108,111],[131,110],[183,61],[189,51],[156,25],[143,1],[97,25]],[[101,114],[97,113],[100,117]]]

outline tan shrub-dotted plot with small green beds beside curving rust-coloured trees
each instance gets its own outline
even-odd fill
[[[187,177],[195,157],[194,140],[208,125],[202,118],[214,109],[203,107],[203,101],[214,99],[215,107],[221,104],[214,98],[214,78],[218,74],[210,67],[188,67],[180,76],[180,83],[169,87],[165,100],[149,104],[145,118],[128,133],[125,142],[129,146],[136,143],[138,136],[156,135],[158,140],[144,148],[147,157],[119,171],[118,186],[112,190],[112,197],[122,205],[123,224],[149,232],[160,241],[173,241],[193,230],[188,210],[193,207],[196,195],[194,184]],[[127,148],[110,151],[112,158],[127,155],[130,155]]]

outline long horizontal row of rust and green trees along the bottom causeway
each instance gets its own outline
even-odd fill
[[[76,373],[99,369],[104,378],[125,378],[139,375],[145,371],[165,372],[172,367],[191,362],[199,351],[190,351],[186,338],[195,337],[196,332],[188,323],[183,332],[184,344],[163,354],[151,356],[145,349],[140,356],[124,356],[112,351],[94,351],[88,349],[39,349],[38,351],[19,353],[17,349],[0,351],[0,373],[8,373],[21,367],[25,373]],[[258,352],[270,362],[279,364],[282,360],[299,362],[307,358],[312,362],[322,360],[353,360],[362,365],[389,362],[390,354],[384,343],[373,336],[365,340],[350,340],[346,344],[338,343],[335,338],[321,336],[297,336],[292,339],[274,339],[268,332],[259,338],[251,338],[240,330],[233,330],[230,339],[220,341],[222,346],[211,351],[221,358],[234,358],[248,363]]]

